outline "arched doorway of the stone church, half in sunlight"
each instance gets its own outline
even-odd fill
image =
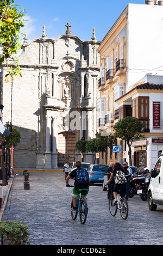
[[[64,166],[66,161],[75,161],[76,135],[72,132],[61,132],[58,135],[58,166]]]

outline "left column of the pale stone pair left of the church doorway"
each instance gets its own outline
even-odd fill
[[[51,166],[51,151],[50,151],[50,139],[51,139],[51,116],[46,115],[46,152],[45,152],[45,169],[52,169]]]

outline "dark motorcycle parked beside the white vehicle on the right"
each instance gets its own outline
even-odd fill
[[[130,178],[129,197],[134,197],[134,194],[140,194],[143,201],[147,200],[148,186],[151,177],[145,172],[136,172]]]

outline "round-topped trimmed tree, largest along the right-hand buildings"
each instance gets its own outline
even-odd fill
[[[124,139],[128,145],[129,164],[132,165],[131,160],[131,144],[134,140],[139,140],[143,132],[143,124],[136,117],[126,117],[119,120],[114,125],[114,137]]]

